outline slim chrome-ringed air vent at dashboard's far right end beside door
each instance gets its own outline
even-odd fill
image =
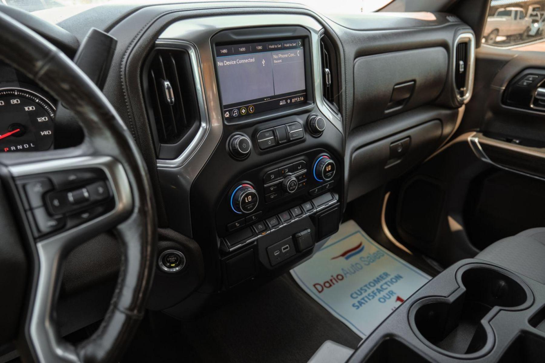
[[[473,93],[475,38],[471,33],[458,36],[454,50],[454,87],[456,99],[467,103]]]

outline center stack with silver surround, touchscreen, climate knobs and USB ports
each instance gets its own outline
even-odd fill
[[[285,26],[287,20],[297,25]],[[290,15],[227,17],[230,27],[221,21],[223,27],[195,20],[208,24],[210,36],[205,44],[202,30],[202,41],[186,45],[199,52],[211,115],[203,145],[216,135],[217,142],[202,165],[195,162],[207,155],[203,146],[181,168],[159,169],[169,225],[199,244],[199,292],[209,296],[266,281],[310,258],[338,230],[346,203],[341,115],[322,94],[322,26]],[[184,31],[175,25],[162,46],[182,39],[173,35]],[[185,214],[180,186],[191,175]],[[179,316],[178,307],[169,313]]]

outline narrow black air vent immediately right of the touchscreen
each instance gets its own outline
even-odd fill
[[[339,84],[337,73],[337,57],[331,41],[320,38],[320,57],[322,60],[322,91],[324,101],[336,112],[339,112]]]

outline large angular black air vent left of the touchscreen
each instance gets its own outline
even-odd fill
[[[144,77],[144,95],[158,158],[177,158],[199,127],[189,53],[181,48],[155,48]]]

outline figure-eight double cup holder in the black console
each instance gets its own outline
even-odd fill
[[[440,353],[477,358],[494,345],[488,320],[492,310],[519,310],[532,294],[518,276],[507,270],[470,264],[457,271],[459,288],[444,297],[429,297],[411,306],[409,320],[420,340]],[[489,314],[490,313],[490,314]]]

